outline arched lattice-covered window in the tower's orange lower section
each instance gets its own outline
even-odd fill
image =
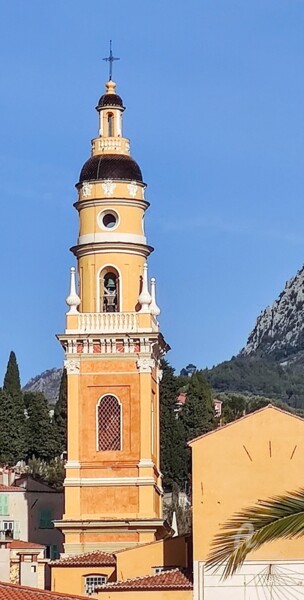
[[[100,399],[97,407],[98,450],[121,450],[121,404],[115,396]]]

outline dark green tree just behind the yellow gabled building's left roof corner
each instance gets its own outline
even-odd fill
[[[193,373],[187,382],[187,400],[182,421],[187,441],[215,427],[211,388],[202,371]]]

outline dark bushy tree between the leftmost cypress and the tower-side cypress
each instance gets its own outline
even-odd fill
[[[56,439],[50,410],[42,392],[25,392],[27,411],[27,458],[50,460],[56,453]]]

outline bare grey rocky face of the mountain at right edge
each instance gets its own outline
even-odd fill
[[[304,267],[287,281],[258,317],[241,356],[268,356],[282,364],[304,362]]]

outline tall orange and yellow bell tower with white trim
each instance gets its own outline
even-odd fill
[[[65,553],[113,552],[170,534],[159,471],[160,331],[148,280],[146,184],[123,136],[110,79],[98,137],[76,184],[79,237],[71,249],[64,334],[68,378]]]

